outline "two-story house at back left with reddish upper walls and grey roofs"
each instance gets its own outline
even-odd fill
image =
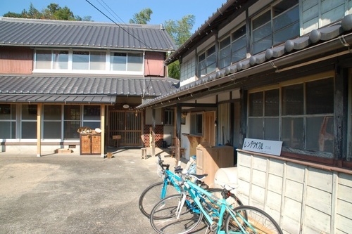
[[[0,18],[1,151],[80,150],[83,126],[101,129],[91,153],[143,146],[149,129],[133,108],[175,88],[172,51],[163,25]]]

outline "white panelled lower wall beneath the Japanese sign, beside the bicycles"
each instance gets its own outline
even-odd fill
[[[351,233],[352,171],[242,151],[237,167],[239,199],[268,212],[284,233]]]

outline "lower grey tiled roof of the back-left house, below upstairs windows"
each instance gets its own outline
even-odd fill
[[[48,97],[64,103],[65,99],[89,102],[107,100],[109,96],[161,96],[175,89],[177,80],[171,78],[115,78],[115,77],[42,77],[0,76],[0,101],[47,100]],[[40,99],[39,97],[42,97]],[[39,99],[35,99],[39,98]],[[49,99],[50,99],[49,98]],[[92,100],[89,100],[92,98]],[[105,99],[104,99],[105,98]],[[110,101],[110,100],[108,100]]]

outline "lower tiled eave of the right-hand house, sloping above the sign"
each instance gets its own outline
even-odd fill
[[[287,66],[293,64],[294,61],[322,56],[323,53],[337,53],[340,50],[343,51],[340,55],[348,54],[351,53],[351,44],[352,15],[346,15],[341,22],[335,25],[312,30],[308,35],[287,40],[280,46],[268,48],[264,53],[258,53],[218,72],[210,73],[196,82],[180,86],[178,89],[172,89],[162,96],[146,101],[137,108],[151,107],[167,100],[168,103],[171,103],[171,100],[177,103],[182,98],[183,100],[187,99],[187,96],[193,97],[196,92],[203,90],[209,92],[212,87],[216,88],[222,84],[235,84],[238,79],[254,74],[269,70],[275,72],[288,70]]]

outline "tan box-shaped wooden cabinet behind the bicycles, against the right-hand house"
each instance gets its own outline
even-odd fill
[[[232,146],[203,147],[196,148],[197,174],[208,174],[203,181],[214,188],[215,173],[220,168],[234,167],[234,148]]]

